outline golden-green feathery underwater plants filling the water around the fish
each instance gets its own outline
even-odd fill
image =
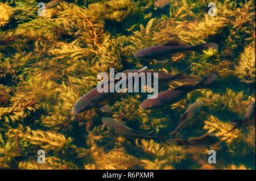
[[[205,0],[170,0],[163,9],[154,0],[67,0],[46,16],[37,14],[38,2],[0,0],[0,169],[255,169],[255,125],[226,133],[229,120],[242,117],[255,99],[255,1],[214,1],[216,16],[207,14]],[[171,39],[219,48],[177,53],[168,64],[133,56]],[[158,110],[143,110],[146,94],[133,93],[109,100],[111,112],[72,114],[109,68],[176,74],[190,64],[187,74],[201,79],[217,72],[218,85]],[[159,91],[182,84],[159,82]],[[196,100],[203,110],[177,137],[209,132],[221,138],[217,145],[129,140],[101,127],[102,117],[113,117],[167,136]],[[209,149],[216,150],[216,164],[207,162]],[[37,162],[38,150],[46,151],[46,164]]]

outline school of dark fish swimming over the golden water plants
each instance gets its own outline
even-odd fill
[[[59,2],[59,1],[56,1]],[[143,58],[146,60],[156,60],[160,64],[166,64],[170,61],[170,57],[174,53],[179,52],[188,52],[188,51],[200,51],[205,50],[208,48],[218,49],[218,45],[216,43],[203,43],[197,45],[187,45],[182,43],[178,40],[171,40],[168,43],[163,45],[156,45],[154,47],[148,47],[141,50],[138,50],[134,57],[136,58]],[[191,65],[188,67],[190,68]],[[169,83],[171,81],[179,81],[179,82],[196,82],[198,79],[196,77],[192,77],[189,75],[184,75],[184,71],[188,68],[184,69],[178,74],[170,75],[164,71],[154,71],[154,70],[125,70],[126,78],[123,81],[126,81],[129,77],[129,73],[158,73],[158,81],[159,82],[166,82]],[[195,85],[181,85],[176,87],[172,90],[167,90],[160,92],[155,99],[145,99],[141,103],[141,108],[144,110],[151,110],[151,109],[159,109],[166,105],[172,105],[179,100],[183,99],[185,95],[189,92],[197,89],[209,89],[213,87],[214,84],[217,82],[218,75],[216,73],[210,73],[207,77],[203,78],[200,82],[196,83]],[[119,79],[114,79],[114,82],[108,82],[108,86],[110,87],[112,84],[114,85]],[[92,89],[91,91],[87,92],[83,95],[75,104],[73,108],[74,114],[79,114],[86,110],[90,110],[91,108],[100,108],[100,104],[102,100],[106,100],[112,98],[114,95],[119,94],[117,92],[98,92],[96,88]],[[196,138],[189,138],[189,140],[185,139],[175,139],[176,135],[188,125],[193,124],[196,121],[197,115],[201,111],[201,108],[204,106],[204,102],[199,100],[191,106],[187,108],[187,110],[181,114],[180,121],[177,124],[177,127],[174,131],[172,131],[170,135],[170,139],[168,142],[171,144],[179,145],[179,146],[209,146],[216,144],[220,141],[220,138],[209,134],[208,132],[205,133],[203,136],[196,137]],[[100,108],[101,111],[110,112],[111,108],[108,104]],[[125,124],[120,123],[117,120],[114,120],[110,117],[103,117],[102,118],[102,126],[106,126],[110,132],[114,132],[115,134],[121,135],[126,138],[143,138],[143,139],[150,139],[150,140],[163,140],[166,141],[168,139],[167,136],[150,136],[148,134],[142,133],[140,131],[135,131],[127,127]],[[234,127],[229,131],[232,132],[234,129],[239,127],[247,127],[250,124],[255,124],[255,100],[249,105],[245,116],[241,119],[231,120],[230,123],[234,124]]]

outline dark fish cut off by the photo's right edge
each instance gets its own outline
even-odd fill
[[[243,116],[241,119],[230,120],[230,123],[234,124],[234,127],[230,129],[228,133],[234,131],[239,127],[245,128],[250,124],[255,124],[255,99],[248,106],[245,116]]]

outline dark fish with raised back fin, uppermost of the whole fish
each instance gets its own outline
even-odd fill
[[[208,48],[218,49],[216,43],[202,43],[197,45],[187,45],[179,40],[171,40],[163,45],[156,45],[138,50],[134,57],[155,59],[156,61],[165,64],[170,59],[171,54],[191,51],[200,51]]]

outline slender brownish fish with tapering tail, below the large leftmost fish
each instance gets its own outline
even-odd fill
[[[142,138],[150,140],[165,140],[167,138],[166,136],[149,136],[147,134],[142,133],[141,131],[135,131],[110,117],[102,117],[101,121],[104,126],[110,129],[110,131],[113,131],[114,133],[119,134],[126,138]]]

